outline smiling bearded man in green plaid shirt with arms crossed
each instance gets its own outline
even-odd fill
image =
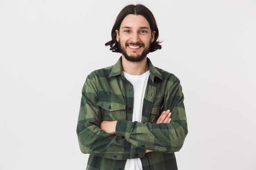
[[[184,96],[175,75],[147,58],[161,49],[151,11],[128,5],[117,16],[109,45],[118,62],[88,75],[77,135],[88,170],[177,170],[174,152],[187,134]]]

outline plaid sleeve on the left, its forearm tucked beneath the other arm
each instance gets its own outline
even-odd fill
[[[102,113],[97,102],[97,78],[88,76],[82,90],[76,129],[81,152],[117,160],[143,157],[145,149],[136,148],[99,128]]]

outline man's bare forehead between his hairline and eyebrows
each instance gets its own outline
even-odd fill
[[[149,23],[143,15],[133,15],[128,14],[124,20],[121,22],[120,29],[123,27],[131,27],[131,28],[140,28],[140,27],[148,27]]]

